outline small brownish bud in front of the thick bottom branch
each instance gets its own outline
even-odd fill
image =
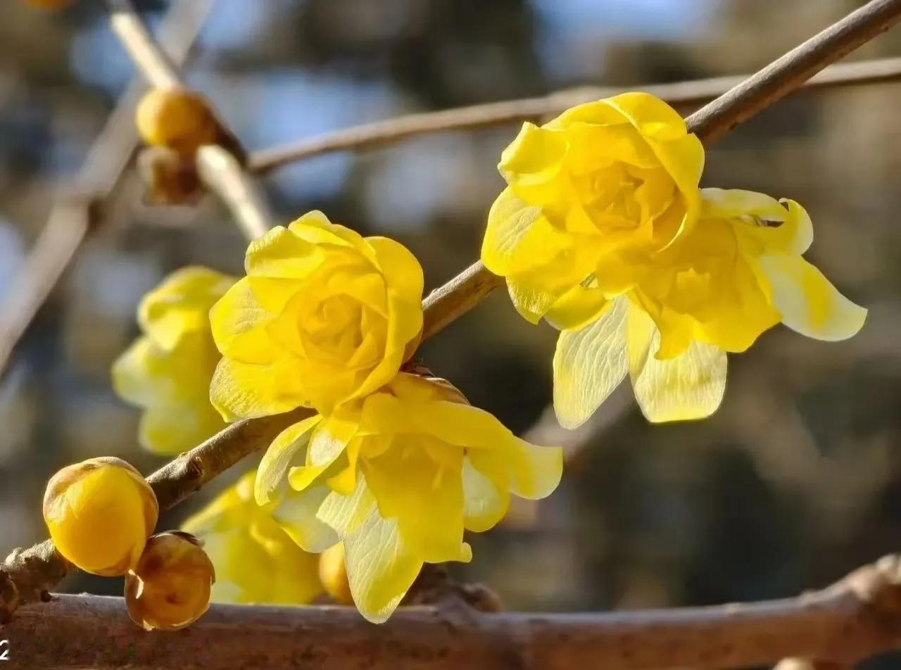
[[[181,629],[209,608],[214,581],[213,563],[198,539],[181,530],[159,533],[125,577],[125,605],[143,629]]]

